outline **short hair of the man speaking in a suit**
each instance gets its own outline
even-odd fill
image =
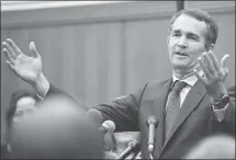
[[[172,30],[175,21],[182,14],[191,16],[198,21],[202,21],[206,24],[205,47],[216,43],[218,36],[217,23],[207,12],[200,9],[184,9],[177,12],[170,20],[170,31]]]

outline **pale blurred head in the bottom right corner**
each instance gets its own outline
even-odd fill
[[[229,136],[212,136],[200,141],[184,159],[235,159],[235,139]]]

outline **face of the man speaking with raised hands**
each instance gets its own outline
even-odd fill
[[[172,24],[168,38],[170,64],[173,70],[191,72],[198,57],[205,52],[206,24],[188,15],[180,15]]]

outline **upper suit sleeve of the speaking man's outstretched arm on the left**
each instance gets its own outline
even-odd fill
[[[145,88],[135,93],[121,96],[110,104],[100,104],[97,110],[102,113],[103,122],[111,119],[115,123],[115,132],[138,132],[138,110]]]

